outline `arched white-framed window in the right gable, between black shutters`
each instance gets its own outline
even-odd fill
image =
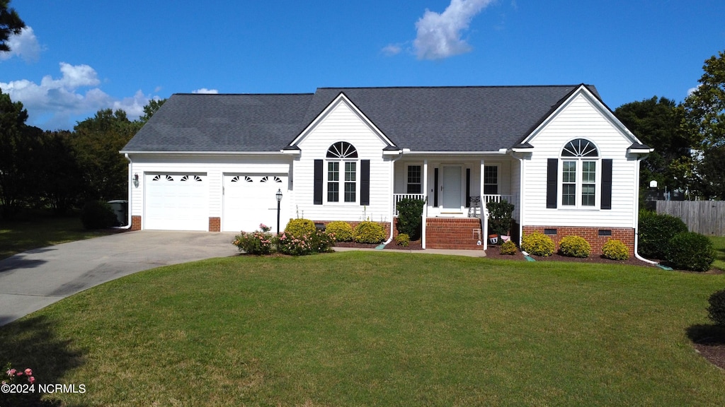
[[[577,138],[561,151],[562,206],[591,207],[597,204],[599,151],[589,140]]]

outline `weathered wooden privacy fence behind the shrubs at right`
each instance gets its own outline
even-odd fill
[[[657,213],[679,217],[690,232],[725,236],[725,201],[657,201]]]

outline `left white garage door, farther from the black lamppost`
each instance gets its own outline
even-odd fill
[[[144,229],[209,230],[206,174],[147,174]]]

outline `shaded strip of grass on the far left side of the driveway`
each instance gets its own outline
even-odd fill
[[[27,222],[0,222],[0,259],[33,248],[97,238],[113,230],[85,230],[78,218],[39,217]]]

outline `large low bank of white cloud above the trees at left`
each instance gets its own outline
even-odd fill
[[[28,109],[29,125],[48,130],[70,129],[100,109],[123,109],[129,119],[136,119],[149,102],[150,96],[141,91],[121,100],[109,96],[97,87],[101,81],[88,65],[61,62],[60,72],[59,79],[46,75],[40,84],[27,79],[0,82],[0,89]]]

